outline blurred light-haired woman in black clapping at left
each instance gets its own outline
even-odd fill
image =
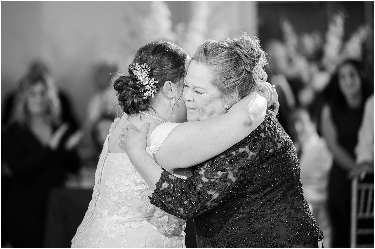
[[[3,218],[13,247],[41,248],[48,192],[63,186],[66,172],[78,169],[74,149],[81,135],[62,123],[55,86],[40,74],[24,77],[14,100],[2,131],[1,157],[12,171],[9,185],[1,189],[8,192]]]

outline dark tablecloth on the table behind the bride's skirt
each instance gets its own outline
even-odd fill
[[[55,188],[49,194],[45,248],[70,248],[71,240],[89,207],[93,190]],[[196,248],[192,220],[187,220],[186,248]]]

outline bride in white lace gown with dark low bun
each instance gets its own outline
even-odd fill
[[[123,142],[118,137],[127,124],[139,129],[151,123],[147,139],[151,157],[171,130],[180,126],[178,133],[173,133],[180,141],[175,151],[178,158],[188,154],[184,160],[196,165],[241,141],[263,121],[267,101],[261,92],[252,92],[226,114],[183,123],[187,117],[181,94],[187,58],[187,53],[172,42],[150,42],[136,52],[129,75],[115,80],[114,89],[125,114],[114,120],[105,139],[92,200],[72,239],[72,248],[184,248],[185,220],[150,204],[148,196],[153,191],[118,147]],[[269,83],[263,84],[262,91],[269,97],[268,105],[277,102],[277,93]],[[180,178],[191,175],[189,169],[172,173]]]

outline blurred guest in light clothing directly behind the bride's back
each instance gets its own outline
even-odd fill
[[[87,105],[86,120],[83,126],[84,140],[79,147],[83,165],[92,166],[94,170],[105,140],[105,137],[101,140],[96,135],[103,130],[107,136],[111,123],[117,115],[117,110],[120,110],[116,106],[116,92],[111,87],[112,74],[116,71],[117,66],[107,62],[101,62],[94,67],[94,83],[98,90]],[[111,122],[107,122],[108,127],[103,127],[107,118],[111,119]]]

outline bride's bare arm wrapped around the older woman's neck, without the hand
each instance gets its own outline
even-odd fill
[[[266,116],[267,101],[253,92],[226,114],[175,127],[154,155],[166,170],[198,165],[248,136]]]

